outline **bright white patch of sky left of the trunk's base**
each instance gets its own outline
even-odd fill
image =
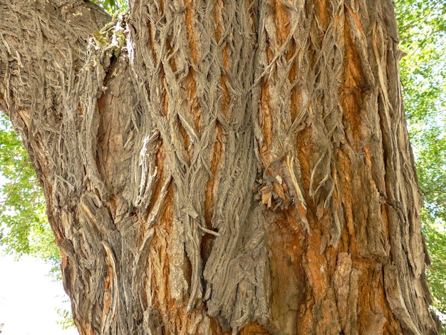
[[[76,329],[63,330],[56,308],[70,309],[63,303],[66,294],[61,282],[53,282],[49,264],[33,257],[19,262],[0,250],[1,335],[78,335]]]

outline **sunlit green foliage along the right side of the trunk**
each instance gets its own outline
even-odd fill
[[[398,0],[403,98],[425,209],[433,306],[446,314],[446,0]],[[446,334],[446,329],[443,330]]]

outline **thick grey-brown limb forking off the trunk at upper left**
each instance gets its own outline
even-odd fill
[[[0,109],[28,133],[39,119],[58,118],[91,34],[110,17],[80,0],[2,1],[0,13]]]

